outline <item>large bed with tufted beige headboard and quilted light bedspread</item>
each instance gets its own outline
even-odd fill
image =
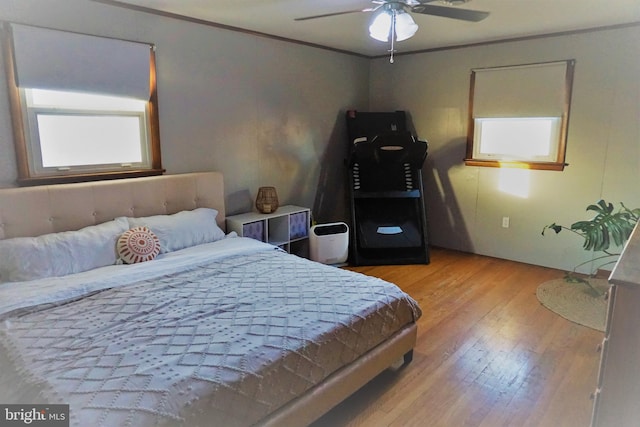
[[[410,362],[421,311],[395,285],[224,223],[217,172],[0,189],[0,402],[68,404],[78,426],[303,426]],[[159,244],[123,263],[140,229]]]

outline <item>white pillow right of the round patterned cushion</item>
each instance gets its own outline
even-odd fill
[[[128,218],[129,226],[149,227],[160,239],[160,252],[167,253],[203,243],[224,239],[224,231],[218,227],[218,211],[197,208],[173,215],[154,215]]]

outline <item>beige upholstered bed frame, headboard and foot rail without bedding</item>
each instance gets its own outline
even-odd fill
[[[0,189],[0,239],[77,230],[118,216],[172,214],[214,208],[225,229],[224,182],[219,172],[197,172],[79,184]],[[412,323],[260,425],[306,426],[379,373],[411,361],[417,327]]]

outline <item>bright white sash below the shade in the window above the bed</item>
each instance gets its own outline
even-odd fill
[[[31,173],[148,169],[146,102],[23,89]]]

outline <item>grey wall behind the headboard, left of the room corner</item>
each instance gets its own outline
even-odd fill
[[[0,19],[155,44],[167,173],[222,171],[230,213],[273,185],[282,204],[342,217],[344,111],[368,105],[367,59],[86,0],[0,0]],[[17,172],[5,86],[0,186],[9,187]]]

